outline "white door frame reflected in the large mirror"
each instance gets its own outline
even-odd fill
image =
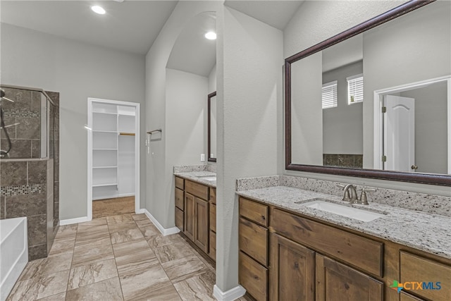
[[[384,95],[391,93],[399,93],[407,90],[418,89],[437,82],[447,82],[447,171],[451,174],[451,75],[441,76],[440,78],[432,78],[429,80],[421,80],[419,82],[409,82],[408,84],[396,87],[388,87],[373,92],[373,169],[382,169],[383,156],[383,130],[382,130],[382,107]]]

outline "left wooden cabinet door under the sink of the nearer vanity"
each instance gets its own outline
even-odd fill
[[[270,299],[314,300],[314,251],[273,233],[270,243]]]

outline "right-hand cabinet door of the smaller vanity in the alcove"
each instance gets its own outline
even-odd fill
[[[209,202],[195,197],[196,221],[194,226],[194,242],[205,253],[209,252]]]

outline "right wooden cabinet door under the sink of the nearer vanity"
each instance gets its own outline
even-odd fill
[[[316,300],[381,301],[383,283],[316,254]]]

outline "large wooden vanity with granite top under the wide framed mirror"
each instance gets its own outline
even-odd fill
[[[284,186],[237,194],[239,281],[256,300],[451,300],[447,216]],[[318,198],[381,217],[307,206]]]

